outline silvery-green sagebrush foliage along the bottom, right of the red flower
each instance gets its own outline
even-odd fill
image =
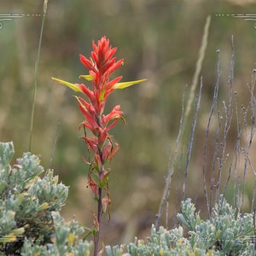
[[[188,229],[188,237],[183,235],[183,227],[156,230],[152,226],[148,241],[137,240],[127,246],[128,255],[253,255],[254,229],[253,213],[236,213],[221,196],[213,209],[212,218],[202,220],[190,199],[182,202],[178,220]],[[122,255],[125,246],[106,247],[108,256]]]

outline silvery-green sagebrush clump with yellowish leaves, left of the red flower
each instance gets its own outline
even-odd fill
[[[59,214],[67,186],[44,173],[34,154],[10,166],[14,154],[13,143],[0,143],[0,255],[89,255],[91,244],[79,240],[82,226]]]

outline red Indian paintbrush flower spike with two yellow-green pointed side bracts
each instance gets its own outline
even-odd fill
[[[117,48],[113,48],[106,37],[99,40],[97,44],[92,42],[92,47],[90,58],[80,55],[80,61],[88,69],[89,74],[81,75],[79,78],[90,82],[90,87],[85,84],[71,84],[61,79],[53,79],[87,96],[86,100],[81,96],[76,96],[79,109],[84,115],[84,121],[79,125],[79,129],[84,127],[82,139],[93,154],[92,160],[84,160],[84,162],[90,165],[88,185],[98,201],[98,222],[100,223],[100,216],[106,211],[110,202],[108,193],[110,170],[106,169],[105,164],[111,160],[119,148],[117,143],[113,144],[112,136],[108,132],[119,119],[124,120],[119,105],[113,107],[110,113],[105,114],[105,104],[113,90],[142,83],[145,79],[125,83],[119,83],[122,76],[110,79],[110,75],[124,62],[123,59],[117,61],[113,56]],[[91,131],[90,137],[87,136],[87,129]],[[105,192],[104,197],[102,192]]]

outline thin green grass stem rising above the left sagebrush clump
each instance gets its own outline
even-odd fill
[[[35,113],[35,106],[36,106],[36,98],[37,98],[37,87],[38,87],[38,64],[40,59],[40,52],[41,52],[41,43],[43,38],[43,32],[44,32],[44,20],[47,10],[47,3],[48,0],[44,0],[44,15],[42,20],[42,26],[41,26],[41,32],[40,32],[40,38],[39,38],[39,44],[38,44],[38,56],[35,66],[35,84],[34,84],[34,92],[33,92],[33,104],[32,104],[32,113],[31,113],[31,122],[30,122],[30,137],[29,137],[29,146],[28,151],[32,150],[32,131],[33,131],[33,123],[34,123],[34,113]]]

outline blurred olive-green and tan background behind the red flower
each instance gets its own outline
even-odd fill
[[[42,14],[43,3],[43,0],[2,0],[0,13]],[[109,108],[121,105],[127,125],[120,122],[113,129],[120,149],[111,164],[111,220],[108,223],[106,214],[102,226],[105,244],[131,241],[135,235],[143,238],[148,236],[158,212],[169,144],[175,143],[177,137],[183,90],[186,84],[191,85],[203,27],[207,15],[212,15],[186,194],[201,208],[205,204],[202,134],[205,135],[216,83],[216,50],[221,53],[220,97],[224,98],[230,73],[231,35],[234,36],[234,89],[238,102],[247,104],[247,83],[251,82],[256,62],[256,21],[226,15],[253,13],[256,14],[253,0],[49,0],[38,70],[32,152],[40,154],[42,165],[54,168],[60,180],[70,186],[68,203],[62,212],[67,219],[75,216],[91,226],[90,211],[95,211],[96,203],[90,189],[86,189],[88,166],[84,165],[82,155],[87,151],[78,131],[82,115],[73,92],[51,77],[79,83],[79,75],[86,73],[79,54],[89,56],[91,41],[106,35],[118,47],[117,57],[125,59],[125,66],[116,75],[122,74],[123,81],[148,79],[144,84],[114,91],[109,98]],[[224,17],[218,16],[222,14]],[[16,157],[28,150],[41,22],[42,17],[33,16],[1,22],[0,140],[15,143]],[[190,127],[191,122],[188,136]],[[236,127],[234,130],[236,137]],[[183,167],[177,172],[172,182],[177,189],[171,195],[170,218],[180,196],[175,199],[182,184]],[[250,188],[248,195],[252,193]]]

